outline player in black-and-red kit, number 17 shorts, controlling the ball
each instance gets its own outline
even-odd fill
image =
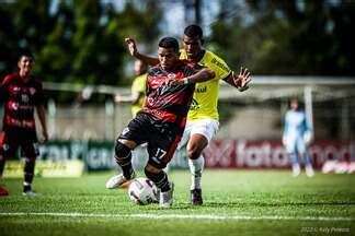
[[[121,187],[135,178],[131,150],[148,143],[146,176],[160,189],[159,205],[172,205],[173,185],[162,170],[171,161],[186,123],[195,83],[210,80],[208,68],[179,60],[179,43],[164,37],[159,42],[159,64],[148,71],[144,108],[122,131],[115,144],[115,158],[123,174],[112,177],[107,188]]]

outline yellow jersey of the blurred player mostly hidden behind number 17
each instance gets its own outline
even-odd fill
[[[135,78],[135,80],[131,84],[131,88],[130,88],[131,93],[139,94],[138,102],[131,105],[131,109],[130,109],[131,117],[136,116],[136,114],[141,109],[141,107],[145,103],[146,85],[147,85],[147,73]]]

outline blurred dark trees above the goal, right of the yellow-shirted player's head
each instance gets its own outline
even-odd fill
[[[257,74],[355,74],[355,36],[351,32],[355,2],[224,3],[219,20],[211,26],[211,42],[231,64],[245,64]]]

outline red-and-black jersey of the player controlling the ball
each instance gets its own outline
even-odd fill
[[[148,70],[146,102],[142,113],[151,114],[164,122],[183,122],[192,102],[195,84],[168,85],[169,79],[183,79],[196,73],[203,67],[180,60],[172,71],[164,71],[159,64]]]

